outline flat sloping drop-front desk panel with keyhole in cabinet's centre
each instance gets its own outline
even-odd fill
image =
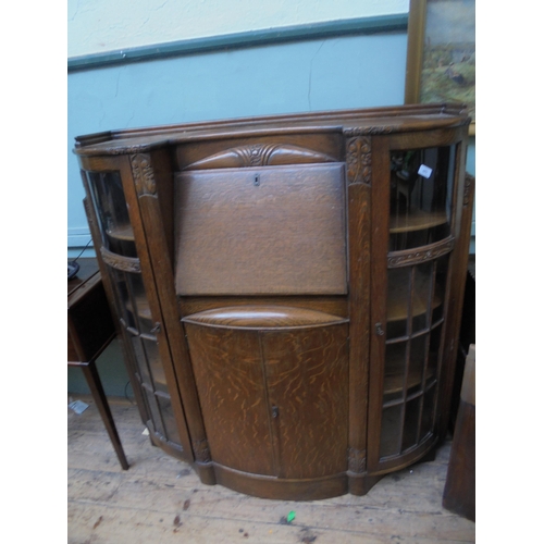
[[[178,295],[347,293],[344,165],[176,174]]]

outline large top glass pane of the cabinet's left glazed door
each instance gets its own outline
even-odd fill
[[[137,257],[119,172],[87,172],[102,242],[110,251]]]

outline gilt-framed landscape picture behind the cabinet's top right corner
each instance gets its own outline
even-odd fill
[[[405,103],[463,102],[475,134],[475,0],[410,0]]]

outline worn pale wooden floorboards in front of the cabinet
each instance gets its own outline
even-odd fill
[[[111,398],[131,465],[122,470],[91,398],[72,397],[90,406],[67,416],[69,544],[474,542],[475,524],[442,508],[449,442],[434,461],[387,475],[363,497],[269,500],[203,485],[151,445],[134,405]]]

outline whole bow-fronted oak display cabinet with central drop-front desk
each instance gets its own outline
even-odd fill
[[[430,104],[112,131],[75,153],[153,444],[202,482],[364,494],[445,436],[469,118]]]

